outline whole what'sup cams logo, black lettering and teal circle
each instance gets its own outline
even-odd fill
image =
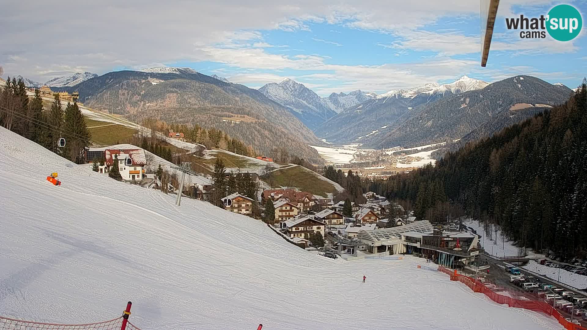
[[[519,38],[544,39],[546,32],[558,40],[569,41],[581,32],[583,20],[581,13],[571,5],[558,5],[552,8],[546,16],[528,18],[519,15],[519,18],[506,18],[508,30],[521,30]]]

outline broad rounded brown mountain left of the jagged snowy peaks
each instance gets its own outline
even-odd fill
[[[190,68],[116,71],[62,90],[76,90],[80,102],[141,123],[156,118],[215,128],[271,156],[299,156],[315,164],[322,159],[308,144],[315,134],[288,109],[261,92],[227,83]]]

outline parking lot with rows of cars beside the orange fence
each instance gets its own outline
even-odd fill
[[[556,290],[556,293],[561,296],[561,298],[556,297],[556,301],[555,301],[555,305],[567,303],[568,301],[566,301],[566,299],[562,298],[562,293],[565,292],[566,293],[566,297],[570,300],[572,300],[572,298],[569,297],[586,297],[587,295],[585,295],[584,292],[573,292],[572,290],[568,290],[567,288],[561,287],[560,285],[556,284],[555,282],[549,281],[548,279],[543,279],[543,278],[538,278],[538,277],[530,277],[530,278],[525,278],[525,280],[523,282],[528,281],[534,281],[537,282],[537,285],[543,286],[543,285],[552,285],[552,288],[549,289],[539,289],[539,290],[535,290],[535,291],[539,291],[539,292],[543,292],[542,294],[536,294],[536,293],[532,293],[530,291],[524,291],[524,289],[522,289],[521,287],[518,287],[518,285],[515,285],[513,282],[510,282],[510,277],[512,276],[512,274],[508,273],[505,271],[505,268],[507,267],[507,264],[505,264],[503,261],[499,261],[499,260],[494,260],[492,258],[483,256],[481,257],[482,260],[485,260],[488,262],[488,264],[491,265],[489,272],[487,273],[487,271],[483,271],[483,277],[485,278],[484,281],[495,285],[495,290],[496,292],[498,291],[502,291],[504,295],[510,295],[513,298],[518,298],[518,299],[528,299],[528,300],[534,300],[534,301],[545,301],[546,300],[546,294],[552,294],[552,289]],[[521,269],[521,268],[520,268]],[[465,273],[463,273],[465,274]],[[474,273],[468,272],[467,275],[472,275],[474,276]],[[528,275],[524,274],[524,270],[521,269],[521,275]],[[491,287],[491,285],[490,285]],[[502,290],[501,290],[502,289]],[[507,292],[507,293],[505,293]],[[572,294],[569,294],[569,292],[572,292]],[[552,299],[549,299],[548,304],[553,304]],[[570,306],[570,305],[569,305]],[[563,316],[565,316],[565,318],[571,318],[571,313],[566,311],[565,309],[561,309],[561,308],[556,308],[557,311],[561,312],[561,314]],[[572,310],[572,308],[569,307],[570,310]],[[575,305],[575,311],[578,309],[584,309],[585,311],[587,311],[587,305],[585,305],[585,307],[579,307],[577,305]],[[583,313],[584,315],[584,313]],[[573,315],[573,320],[577,320],[581,323],[582,326],[586,326],[587,327],[587,321],[583,319],[583,315]]]

